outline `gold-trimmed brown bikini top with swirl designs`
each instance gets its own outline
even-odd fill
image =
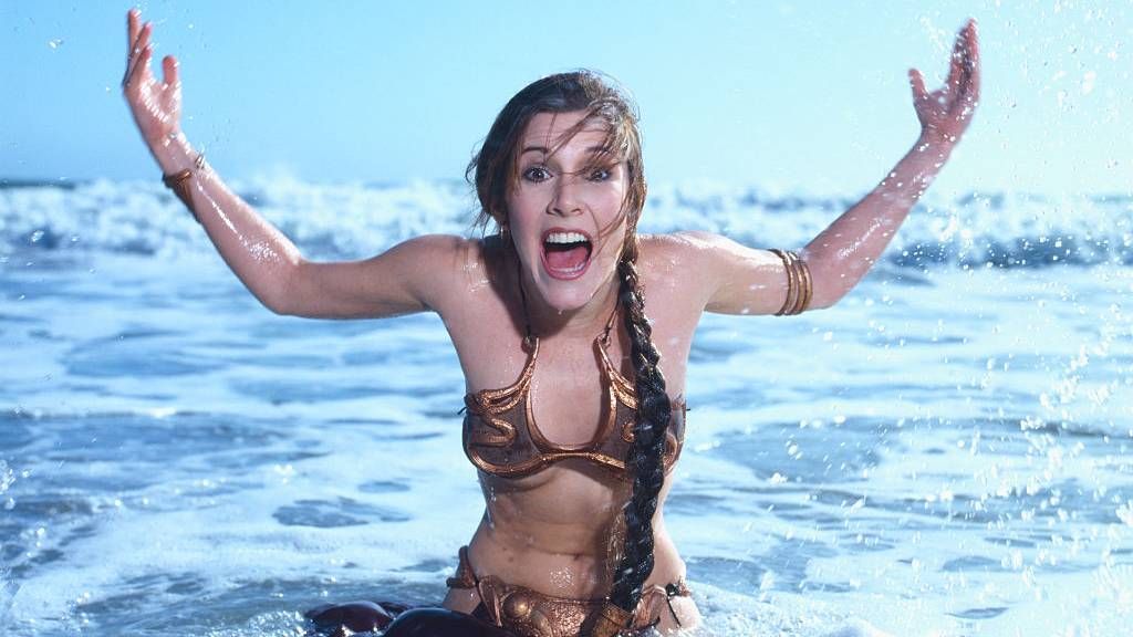
[[[526,299],[525,299],[526,300]],[[539,431],[531,409],[531,376],[539,357],[539,339],[523,339],[527,364],[519,380],[496,390],[465,396],[465,453],[480,470],[500,477],[529,476],[544,467],[571,458],[589,460],[629,478],[625,457],[633,442],[637,423],[637,394],[633,383],[617,372],[606,348],[617,312],[610,316],[605,331],[594,340],[602,370],[604,400],[598,431],[589,442],[556,444]],[[684,440],[683,400],[672,402],[672,417],[665,436],[665,473],[672,470]]]

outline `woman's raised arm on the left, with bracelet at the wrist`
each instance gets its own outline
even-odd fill
[[[228,188],[181,133],[177,60],[150,70],[153,25],[127,16],[128,53],[122,94],[164,180],[193,212],[224,262],[269,309],[299,316],[380,317],[420,312],[443,297],[444,272],[467,241],[421,237],[381,256],[350,263],[313,263],[279,229]]]

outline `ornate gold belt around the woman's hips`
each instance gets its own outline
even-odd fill
[[[468,546],[460,547],[460,566],[457,567],[455,576],[450,577],[446,584],[449,588],[475,588],[480,595],[488,621],[522,637],[574,637],[606,605],[604,598],[555,597],[525,586],[508,584],[492,575],[477,577],[468,561]],[[687,597],[691,594],[683,579],[665,587],[647,586],[633,612],[633,629],[656,626],[661,621],[661,613],[666,610],[679,626],[680,620],[673,611],[671,597]]]

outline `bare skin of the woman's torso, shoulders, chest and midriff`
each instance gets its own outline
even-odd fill
[[[704,304],[697,290],[689,289],[689,273],[672,258],[671,247],[663,237],[642,237],[638,271],[661,370],[670,397],[678,398],[683,396],[689,345]],[[492,239],[471,245],[458,263],[468,278],[462,286],[467,296],[454,299],[451,312],[437,308],[470,393],[513,384],[528,362],[523,307],[514,265],[508,260]],[[614,309],[614,298],[610,296],[603,320]],[[531,411],[542,435],[555,444],[590,441],[603,419],[606,388],[593,348],[603,322],[539,333]],[[632,379],[628,336],[621,320],[615,325],[606,353],[617,371]],[[523,477],[479,475],[486,511],[469,544],[469,560],[478,575],[561,597],[596,598],[608,593],[623,540],[621,508],[630,495],[624,476],[582,458]],[[662,521],[671,484],[672,474],[666,476],[654,520],[656,564],[649,584],[664,585],[684,575]],[[469,611],[476,602],[475,594],[454,589],[445,605]]]

